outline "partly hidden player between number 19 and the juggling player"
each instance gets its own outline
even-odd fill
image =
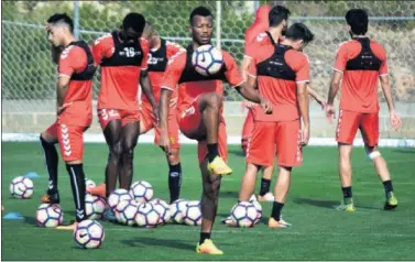
[[[159,102],[161,85],[164,77],[164,72],[167,66],[168,59],[181,51],[182,46],[160,37],[159,32],[154,30],[153,25],[149,22],[145,25],[143,37],[149,40],[150,54],[149,54],[149,77],[153,86],[155,100]],[[178,199],[182,185],[182,165],[179,159],[181,143],[178,141],[178,124],[176,118],[176,101],[177,92],[173,92],[172,103],[168,108],[168,138],[171,141],[171,152],[166,155],[168,164],[168,189],[170,203]],[[141,122],[140,132],[145,133],[154,128],[155,138],[154,143],[160,142],[160,128],[153,113],[152,105],[144,96],[141,102]]]

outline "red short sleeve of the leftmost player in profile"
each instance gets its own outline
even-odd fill
[[[78,46],[69,45],[59,56],[58,75],[70,77],[76,72],[81,72],[88,64],[85,51]]]

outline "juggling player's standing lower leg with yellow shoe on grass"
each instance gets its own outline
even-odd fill
[[[203,194],[201,194],[201,230],[200,240],[197,250],[200,253],[222,254],[223,252],[215,247],[211,242],[211,230],[218,210],[219,190],[221,176],[211,175],[208,170],[208,159],[200,164]],[[207,247],[209,250],[203,250]]]

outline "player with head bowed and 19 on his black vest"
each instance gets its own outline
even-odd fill
[[[106,183],[88,188],[91,194],[108,197],[117,177],[120,188],[130,189],[133,175],[133,152],[140,134],[139,84],[149,98],[156,119],[156,102],[148,74],[149,42],[141,37],[145,19],[129,13],[122,29],[95,41],[92,53],[101,68],[98,118],[109,148]],[[110,209],[106,212],[112,220]]]

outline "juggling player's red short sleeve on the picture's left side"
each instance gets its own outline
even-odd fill
[[[179,52],[168,59],[161,88],[175,90],[186,65],[186,52]]]

